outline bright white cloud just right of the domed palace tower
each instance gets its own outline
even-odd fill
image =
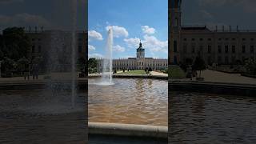
[[[164,52],[168,53],[168,41],[160,41],[154,36],[145,35],[142,41],[143,47],[153,52]]]

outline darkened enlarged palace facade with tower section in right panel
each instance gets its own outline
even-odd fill
[[[201,55],[206,64],[238,64],[256,58],[256,30],[215,26],[182,26],[182,1],[170,3],[169,64],[194,61]]]

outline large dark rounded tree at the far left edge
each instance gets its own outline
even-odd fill
[[[23,28],[11,27],[2,31],[0,38],[0,58],[7,57],[18,61],[20,58],[28,58],[30,51],[30,38]],[[5,54],[2,56],[2,54]]]

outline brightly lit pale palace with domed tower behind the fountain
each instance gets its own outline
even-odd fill
[[[136,52],[136,58],[119,58],[113,59],[113,70],[163,70],[168,67],[168,60],[164,58],[145,58],[145,49],[142,47],[142,42],[139,43]],[[98,70],[102,71],[102,58],[98,59]]]

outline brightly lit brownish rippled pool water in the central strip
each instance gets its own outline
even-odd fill
[[[98,78],[89,79],[90,122],[167,126],[167,81],[114,78],[110,86],[97,82]]]

